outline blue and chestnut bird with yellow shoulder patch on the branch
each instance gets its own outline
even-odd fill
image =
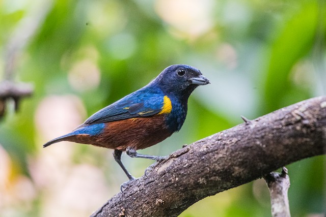
[[[112,148],[115,161],[133,180],[121,162],[121,153],[126,151],[134,158],[162,159],[136,150],[155,145],[179,131],[190,94],[198,85],[206,84],[209,80],[194,67],[169,66],[143,88],[99,110],[71,133],[52,139],[43,147],[71,141]]]

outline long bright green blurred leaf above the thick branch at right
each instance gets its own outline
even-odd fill
[[[265,111],[271,112],[283,106],[304,100],[306,95],[290,95],[290,101],[283,96],[291,94],[289,73],[293,65],[311,50],[316,33],[318,7],[311,1],[303,5],[285,23],[281,31],[275,29],[276,39],[271,44],[270,57],[264,89]],[[288,98],[289,99],[289,98]]]

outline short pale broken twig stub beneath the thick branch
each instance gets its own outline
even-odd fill
[[[289,199],[287,192],[290,188],[290,178],[287,169],[281,173],[271,172],[264,177],[270,194],[271,215],[274,217],[290,217]]]

